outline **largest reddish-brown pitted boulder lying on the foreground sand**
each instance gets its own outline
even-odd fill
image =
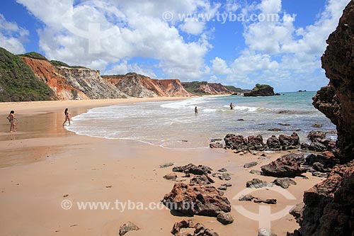
[[[229,200],[214,186],[177,183],[171,193],[164,196],[162,203],[170,210],[183,215],[205,215],[216,217],[221,211],[231,210]],[[186,207],[188,206],[188,207]]]

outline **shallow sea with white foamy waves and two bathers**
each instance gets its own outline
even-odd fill
[[[75,116],[66,128],[79,135],[137,140],[173,149],[207,148],[210,139],[223,138],[228,133],[245,137],[261,134],[265,142],[271,135],[297,132],[300,142],[309,142],[310,130],[336,130],[312,106],[315,94],[308,91],[267,97],[208,96],[107,106]],[[229,103],[234,104],[234,110]],[[322,128],[312,127],[315,123]],[[273,128],[281,130],[270,131]],[[328,137],[336,140],[336,134]]]

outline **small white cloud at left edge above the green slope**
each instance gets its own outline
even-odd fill
[[[0,13],[0,47],[15,54],[23,53],[25,52],[23,41],[28,35],[28,30],[19,27],[17,23],[6,21]]]

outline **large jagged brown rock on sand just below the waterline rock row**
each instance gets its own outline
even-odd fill
[[[303,154],[286,154],[274,162],[270,162],[261,167],[263,174],[274,177],[295,177],[306,172],[301,168]]]

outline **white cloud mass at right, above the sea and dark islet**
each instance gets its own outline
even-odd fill
[[[282,11],[280,0],[249,6],[244,12],[277,13],[280,21],[245,24],[247,47],[230,66],[233,73],[227,81],[249,87],[268,82],[278,91],[316,90],[326,84],[320,57],[348,2],[329,0],[316,22],[305,28],[294,26],[295,15]]]

